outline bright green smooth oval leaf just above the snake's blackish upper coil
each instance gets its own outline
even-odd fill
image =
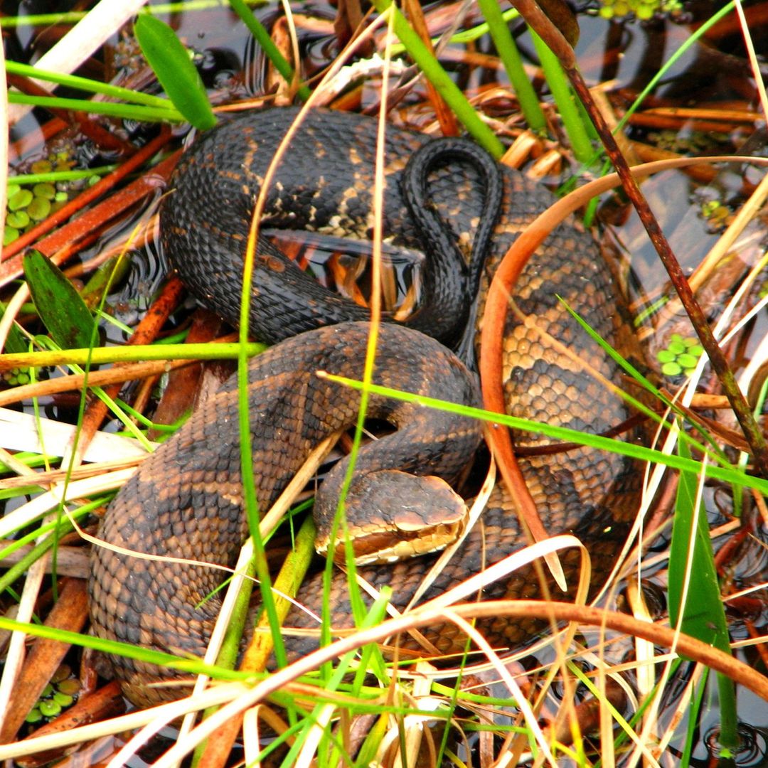
[[[200,74],[174,31],[159,18],[141,15],[134,25],[141,52],[170,101],[200,131],[216,124]]]

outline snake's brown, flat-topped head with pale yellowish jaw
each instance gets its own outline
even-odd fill
[[[464,531],[467,506],[451,486],[434,475],[409,475],[396,469],[353,478],[346,496],[347,538],[356,564],[392,563],[444,549]],[[333,518],[315,515],[319,554],[326,554]],[[333,559],[346,562],[339,528]]]

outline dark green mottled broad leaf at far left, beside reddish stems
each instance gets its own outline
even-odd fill
[[[50,259],[33,250],[24,274],[40,319],[62,349],[91,346],[94,319],[80,294]]]

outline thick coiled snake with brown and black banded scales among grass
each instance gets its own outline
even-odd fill
[[[243,255],[253,207],[297,116],[296,108],[250,111],[204,134],[182,156],[161,209],[161,241],[170,263],[201,302],[232,323],[240,317]],[[372,118],[309,111],[273,169],[261,228],[369,241],[376,141],[377,122]],[[424,233],[406,200],[404,179],[410,159],[425,147],[439,147],[441,141],[405,128],[386,128],[382,227],[388,246],[424,250]],[[478,283],[482,317],[495,266],[521,229],[551,204],[551,193],[516,170],[496,166],[499,215],[489,227],[487,257],[472,276],[473,267],[467,265],[483,228],[488,178],[482,167],[465,158],[443,161],[439,150],[433,154],[421,174],[420,190],[429,198],[424,208],[428,218],[439,219],[452,233],[451,248],[462,259],[455,271],[464,274],[465,284]],[[440,294],[442,288],[435,288],[435,281],[443,278],[427,280]],[[525,266],[506,326],[499,329],[505,339],[507,412],[586,432],[606,432],[631,415],[610,387],[621,385],[621,369],[588,339],[561,297],[620,352],[641,355],[634,334],[627,330],[627,310],[611,270],[591,233],[569,220],[551,233]],[[466,322],[466,300],[462,301],[447,311],[417,310],[412,323],[382,323],[373,382],[478,405],[475,374],[442,343],[455,341],[455,327],[439,332],[439,339],[430,338],[425,327],[435,317],[458,316]],[[369,310],[329,293],[260,237],[249,328],[254,337],[274,346],[250,361],[247,397],[262,514],[324,437],[356,423],[359,394],[316,372],[362,377],[368,319]],[[418,402],[372,396],[367,408],[371,418],[389,422],[395,430],[360,452],[346,497],[347,514],[356,507],[375,511],[387,505],[399,507],[406,521],[396,527],[407,543],[412,531],[409,515],[417,515],[415,508],[437,507],[449,515],[455,505],[451,485],[475,455],[481,428],[475,419],[425,409]],[[204,654],[220,607],[217,588],[223,581],[221,572],[207,563],[231,566],[248,535],[237,413],[233,377],[141,464],[111,502],[98,530],[98,538],[109,546],[94,546],[91,554],[91,624],[98,637],[182,657]],[[634,433],[625,438],[640,439]],[[601,584],[634,520],[641,477],[636,463],[587,447],[536,452],[549,441],[534,432],[514,432],[514,439],[518,448],[525,449],[521,470],[545,528],[550,534],[576,535],[591,554],[593,584]],[[339,478],[346,476],[346,469],[342,460],[329,473],[316,505],[325,492],[329,500],[323,503],[335,510]],[[377,490],[379,475],[386,475],[393,485]],[[498,483],[478,524],[432,574],[419,599],[445,593],[525,542],[511,494]],[[391,588],[392,605],[402,609],[417,594],[437,557],[422,554],[363,565],[358,571],[374,588]],[[561,553],[569,584],[578,581],[580,558],[576,549]],[[321,580],[322,574],[305,580],[297,594],[298,606],[286,618],[289,660],[318,645]],[[487,584],[478,599],[541,596],[539,578],[528,566]],[[333,576],[329,602],[333,629],[353,626],[349,587],[341,571]],[[478,621],[478,630],[499,650],[520,647],[541,629],[534,617]],[[422,642],[439,654],[461,654],[467,647],[463,632],[449,621],[427,627],[422,634]],[[398,642],[403,649],[420,648],[410,636]],[[124,693],[137,703],[177,697],[178,687],[152,684],[184,679],[181,673],[131,657],[115,655],[111,665]]]

